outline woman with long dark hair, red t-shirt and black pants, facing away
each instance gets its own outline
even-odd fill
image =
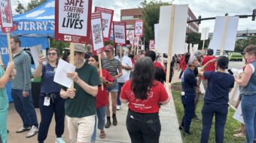
[[[154,80],[154,64],[143,56],[137,60],[133,78],[123,85],[120,101],[129,102],[126,128],[132,142],[159,142],[161,125],[159,103],[167,104],[169,95],[159,81]]]

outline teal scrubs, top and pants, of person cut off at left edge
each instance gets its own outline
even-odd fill
[[[4,75],[5,71],[0,66],[0,77]],[[8,117],[8,96],[5,88],[0,88],[0,135],[2,143],[7,143],[7,117]]]

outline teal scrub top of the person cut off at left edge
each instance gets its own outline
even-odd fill
[[[4,75],[5,71],[0,66],[0,78]],[[0,88],[0,112],[8,110],[8,96],[6,93],[6,88]]]

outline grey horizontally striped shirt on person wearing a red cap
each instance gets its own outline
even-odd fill
[[[118,59],[102,59],[102,68],[107,70],[111,76],[118,75],[117,69],[120,68],[120,65],[121,64]]]

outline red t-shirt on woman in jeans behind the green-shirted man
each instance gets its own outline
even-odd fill
[[[99,71],[98,71],[99,74]],[[104,77],[107,81],[113,82],[113,78],[111,75],[109,75],[108,71],[105,69],[102,69],[102,77]],[[96,95],[96,108],[101,108],[102,106],[105,106],[108,104],[108,92],[106,90],[106,85],[103,84],[103,90],[102,87],[98,87],[98,93]]]

